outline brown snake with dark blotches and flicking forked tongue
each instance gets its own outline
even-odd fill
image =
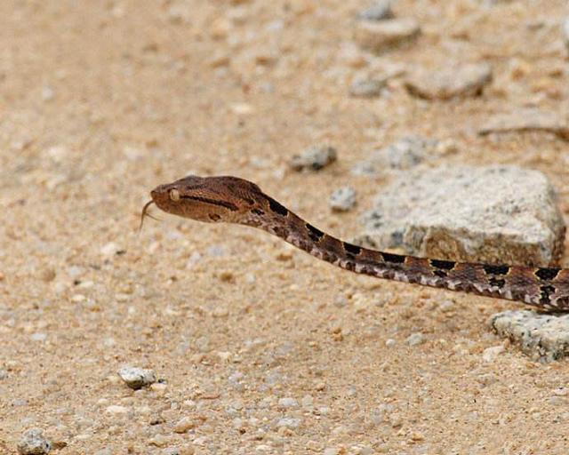
[[[318,259],[358,274],[569,311],[568,268],[455,262],[368,250],[325,234],[248,180],[190,175],[156,187],[150,196],[140,226],[148,205],[154,203],[164,212],[192,220],[264,229]]]

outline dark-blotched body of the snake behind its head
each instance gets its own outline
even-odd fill
[[[244,224],[261,228],[317,259],[351,272],[517,300],[547,310],[569,310],[569,269],[496,266],[369,250],[325,234],[280,204],[272,209],[272,216],[263,213]]]

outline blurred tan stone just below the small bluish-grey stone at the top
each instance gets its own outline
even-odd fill
[[[421,35],[413,18],[359,20],[355,30],[357,44],[366,51],[384,52],[401,44],[411,43]]]

